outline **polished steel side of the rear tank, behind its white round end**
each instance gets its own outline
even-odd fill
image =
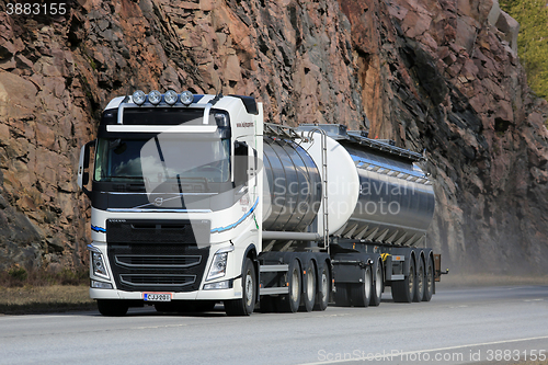
[[[341,141],[354,160],[359,195],[336,235],[396,244],[416,244],[435,207],[434,190],[412,161]]]

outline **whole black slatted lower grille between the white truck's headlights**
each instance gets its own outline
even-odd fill
[[[121,290],[194,292],[204,276],[209,247],[173,243],[109,243],[109,261]]]

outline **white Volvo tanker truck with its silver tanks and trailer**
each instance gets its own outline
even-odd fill
[[[266,124],[250,96],[172,90],[113,99],[96,136],[78,183],[102,315],[224,303],[248,316],[378,306],[385,286],[396,301],[435,293],[420,153],[342,125]]]

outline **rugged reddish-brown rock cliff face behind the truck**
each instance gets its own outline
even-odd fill
[[[342,123],[426,149],[429,244],[455,266],[547,271],[548,106],[529,94],[516,24],[492,0],[0,9],[0,267],[87,260],[79,147],[111,98],[174,88],[250,94],[267,122]]]

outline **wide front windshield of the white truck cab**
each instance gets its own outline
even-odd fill
[[[161,134],[151,139],[100,138],[95,156],[95,181],[144,181],[148,184],[201,179],[230,179],[229,139],[192,140]]]

